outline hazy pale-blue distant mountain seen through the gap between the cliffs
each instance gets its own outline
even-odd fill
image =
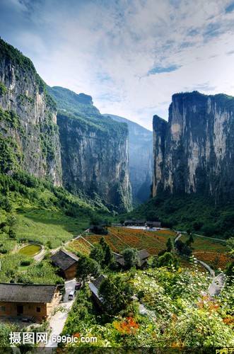
[[[129,180],[132,195],[138,202],[151,197],[153,181],[153,134],[141,125],[118,115],[105,114],[129,127]]]

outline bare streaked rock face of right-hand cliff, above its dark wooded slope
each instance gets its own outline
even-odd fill
[[[234,98],[172,96],[169,120],[153,117],[153,196],[203,193],[234,200]]]

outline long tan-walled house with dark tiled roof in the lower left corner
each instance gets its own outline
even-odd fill
[[[59,304],[62,285],[0,283],[0,317],[48,319]]]

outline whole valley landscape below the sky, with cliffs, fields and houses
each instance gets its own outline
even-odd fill
[[[18,322],[49,335],[62,317],[56,334],[95,336],[92,353],[234,346],[233,115],[231,96],[176,93],[151,133],[49,87],[0,39],[3,348]],[[136,219],[160,227],[123,226]],[[223,277],[212,294],[194,258]]]

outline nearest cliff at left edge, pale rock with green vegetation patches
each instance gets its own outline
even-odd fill
[[[56,104],[30,59],[0,40],[1,172],[24,169],[62,183]]]

